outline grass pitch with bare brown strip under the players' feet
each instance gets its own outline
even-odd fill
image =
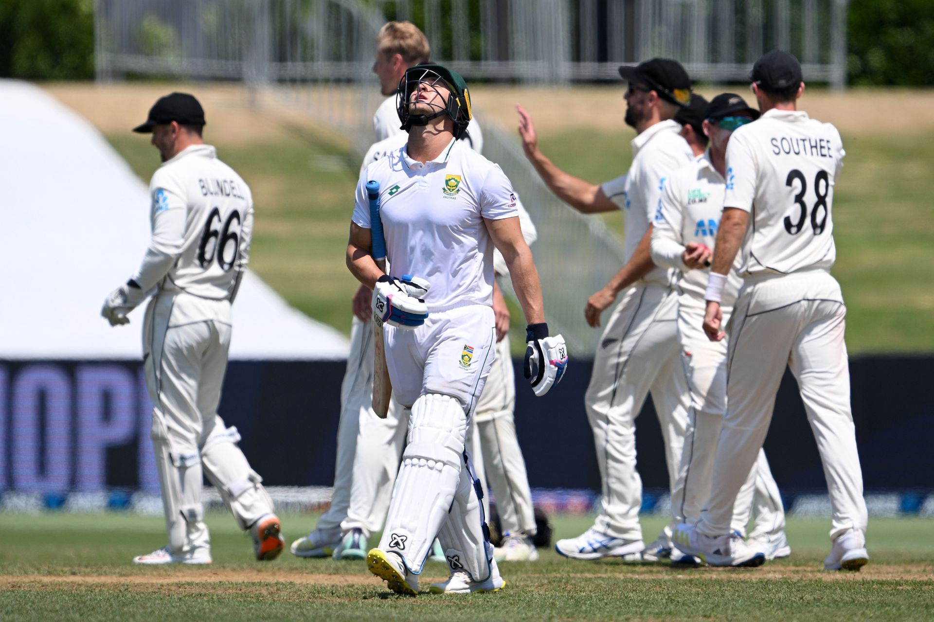
[[[290,539],[316,516],[283,516]],[[828,521],[793,520],[791,558],[757,569],[674,569],[560,558],[502,564],[497,594],[417,598],[391,594],[363,562],[251,558],[248,537],[227,515],[207,517],[214,564],[136,567],[134,555],[164,542],[161,518],[129,515],[0,515],[3,620],[929,620],[934,614],[934,540],[924,519],[870,522],[870,565],[824,573]],[[556,521],[577,535],[587,517]],[[651,538],[662,521],[644,520]],[[371,543],[374,544],[374,543]],[[429,563],[423,587],[446,568]]]

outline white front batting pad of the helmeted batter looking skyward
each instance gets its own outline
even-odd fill
[[[447,519],[460,476],[467,416],[448,395],[429,393],[412,405],[408,445],[389,502],[379,548],[421,573],[432,541]]]

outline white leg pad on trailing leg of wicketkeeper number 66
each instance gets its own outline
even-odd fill
[[[247,457],[236,445],[236,428],[221,429],[208,437],[201,450],[205,475],[218,489],[240,529],[246,530],[262,516],[273,514],[273,500],[262,488],[262,477],[249,468]]]

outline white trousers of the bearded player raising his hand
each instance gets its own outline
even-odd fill
[[[606,324],[593,361],[585,405],[603,493],[594,528],[616,538],[643,539],[635,421],[649,391],[665,440],[669,486],[675,486],[689,401],[677,304],[675,292],[664,286],[627,290]]]

